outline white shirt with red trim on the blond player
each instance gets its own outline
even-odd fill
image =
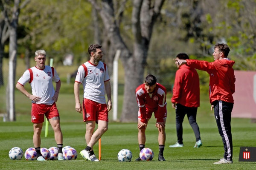
[[[54,74],[52,74],[52,72],[54,72]],[[59,82],[60,78],[53,67],[45,65],[44,70],[36,67],[27,69],[23,76],[18,80],[18,83],[24,86],[27,82],[29,82],[32,89],[32,94],[41,97],[39,102],[32,101],[32,103],[52,105],[52,97],[55,93],[52,80]]]

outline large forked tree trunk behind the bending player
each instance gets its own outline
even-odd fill
[[[116,21],[112,0],[88,0],[99,12],[113,50],[121,50],[121,61],[125,69],[125,89],[121,122],[137,122],[138,106],[135,89],[143,83],[144,69],[154,23],[160,14],[164,0],[134,0],[131,16],[133,34],[132,50],[124,42]],[[126,1],[123,1],[126,3]]]

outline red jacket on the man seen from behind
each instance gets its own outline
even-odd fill
[[[200,87],[198,73],[194,68],[181,65],[176,71],[172,103],[196,108],[200,106]]]

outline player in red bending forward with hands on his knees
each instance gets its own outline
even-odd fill
[[[167,117],[166,109],[166,88],[157,83],[157,78],[149,74],[145,77],[145,83],[139,85],[136,89],[136,98],[139,106],[138,112],[138,142],[139,148],[145,148],[146,136],[145,130],[148,120],[154,112],[157,120],[155,126],[158,129],[159,154],[158,161],[165,161],[163,150],[166,141],[165,124]],[[140,157],[136,161],[141,161]]]

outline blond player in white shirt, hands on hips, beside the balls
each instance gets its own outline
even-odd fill
[[[23,76],[18,80],[16,88],[32,100],[31,122],[34,124],[33,143],[37,153],[37,160],[45,161],[40,151],[40,135],[44,115],[54,130],[55,141],[58,147],[58,160],[64,160],[62,155],[63,136],[60,126],[60,115],[55,104],[58,101],[61,80],[56,70],[53,67],[45,65],[45,61],[46,52],[44,50],[35,51],[36,66],[25,71]],[[52,80],[56,82],[56,90],[54,90]],[[32,94],[24,88],[27,82],[29,82],[32,88]]]

